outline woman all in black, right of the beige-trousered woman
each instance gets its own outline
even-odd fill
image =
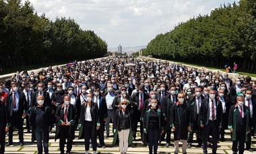
[[[153,151],[154,154],[158,151],[158,141],[161,139],[160,133],[164,133],[163,126],[163,115],[160,106],[157,105],[158,101],[156,99],[151,100],[151,105],[149,106],[143,121],[143,131],[146,134],[146,142],[148,143],[148,148],[150,149],[150,154]]]

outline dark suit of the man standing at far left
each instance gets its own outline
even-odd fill
[[[10,117],[10,123],[11,126],[9,127],[9,144],[13,143],[13,127],[17,126],[19,130],[19,140],[20,143],[23,143],[24,137],[23,137],[23,119],[22,119],[22,114],[27,113],[28,111],[28,103],[26,102],[26,96],[24,92],[18,92],[19,96],[19,102],[18,102],[18,110],[15,110],[13,108],[13,92],[9,93],[7,96],[7,110],[9,112],[9,117]],[[17,102],[17,100],[16,100]]]

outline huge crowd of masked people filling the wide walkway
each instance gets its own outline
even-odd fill
[[[182,153],[195,143],[203,153],[208,146],[216,153],[218,141],[227,139],[226,129],[233,153],[253,152],[256,83],[243,74],[231,80],[226,73],[181,64],[111,57],[49,66],[38,74],[17,72],[0,84],[0,98],[0,153],[5,152],[6,133],[6,146],[13,145],[13,129],[24,145],[23,125],[38,153],[49,153],[53,128],[61,153],[71,152],[76,130],[86,154],[90,148],[94,153],[105,148],[104,139],[112,133],[113,146],[122,154],[138,140],[149,153],[158,153],[160,143],[170,147],[171,140],[174,153],[179,142]]]

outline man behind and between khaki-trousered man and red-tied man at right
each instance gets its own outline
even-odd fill
[[[188,148],[191,148],[193,143],[193,133],[196,134],[197,137],[197,147],[201,147],[202,145],[202,130],[199,126],[199,111],[201,107],[201,102],[203,101],[203,96],[201,92],[201,88],[197,86],[195,88],[195,93],[189,100],[189,104],[191,105],[191,119],[193,123],[193,129],[189,132],[189,139],[188,139]]]

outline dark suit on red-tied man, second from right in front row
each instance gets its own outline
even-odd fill
[[[203,153],[207,153],[207,141],[212,135],[212,153],[217,151],[217,142],[219,138],[219,127],[222,126],[222,104],[215,99],[216,106],[216,117],[214,121],[210,120],[210,108],[209,108],[209,99],[204,99],[201,102],[201,107],[199,111],[200,124],[204,125],[203,127]],[[210,104],[212,106],[212,104]]]

